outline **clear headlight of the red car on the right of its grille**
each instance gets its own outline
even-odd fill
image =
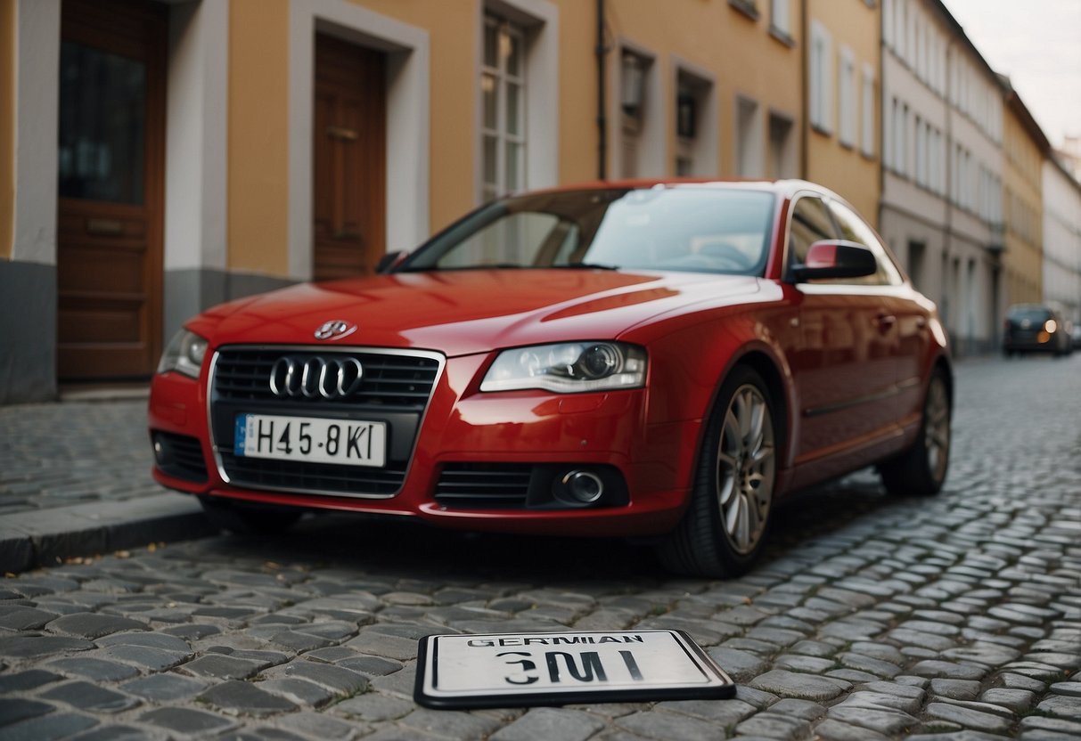
[[[560,393],[633,389],[645,383],[645,350],[623,342],[561,342],[504,350],[481,391]]]

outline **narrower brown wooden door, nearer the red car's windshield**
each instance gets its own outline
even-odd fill
[[[371,273],[386,252],[386,62],[316,36],[316,280]]]

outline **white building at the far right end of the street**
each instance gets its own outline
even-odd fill
[[[1043,300],[1081,322],[1081,185],[1043,162]]]

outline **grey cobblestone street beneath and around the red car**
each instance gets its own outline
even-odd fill
[[[938,497],[822,487],[729,581],[624,543],[339,515],[9,578],[0,739],[1081,738],[1081,356],[961,364],[955,432]],[[412,700],[425,634],[566,628],[685,630],[737,697]]]

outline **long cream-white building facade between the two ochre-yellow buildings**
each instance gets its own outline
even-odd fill
[[[882,4],[879,231],[957,354],[998,343],[1003,91],[939,0]]]

